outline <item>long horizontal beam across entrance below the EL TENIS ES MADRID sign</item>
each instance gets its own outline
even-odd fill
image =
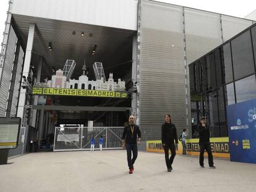
[[[129,107],[81,107],[81,106],[32,106],[37,110],[52,111],[127,111]]]

